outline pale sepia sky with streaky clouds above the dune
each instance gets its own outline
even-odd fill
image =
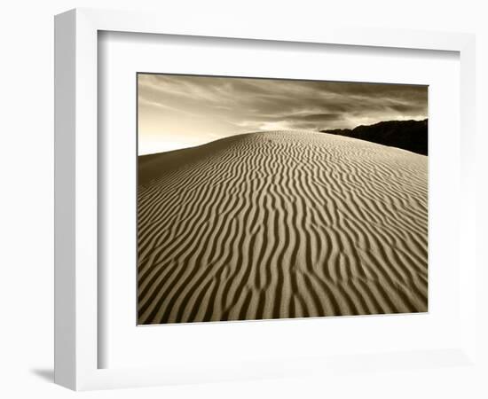
[[[259,130],[427,118],[427,86],[138,74],[138,153]]]

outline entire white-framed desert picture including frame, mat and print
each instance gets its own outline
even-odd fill
[[[55,47],[57,383],[476,367],[472,35],[83,9]]]

